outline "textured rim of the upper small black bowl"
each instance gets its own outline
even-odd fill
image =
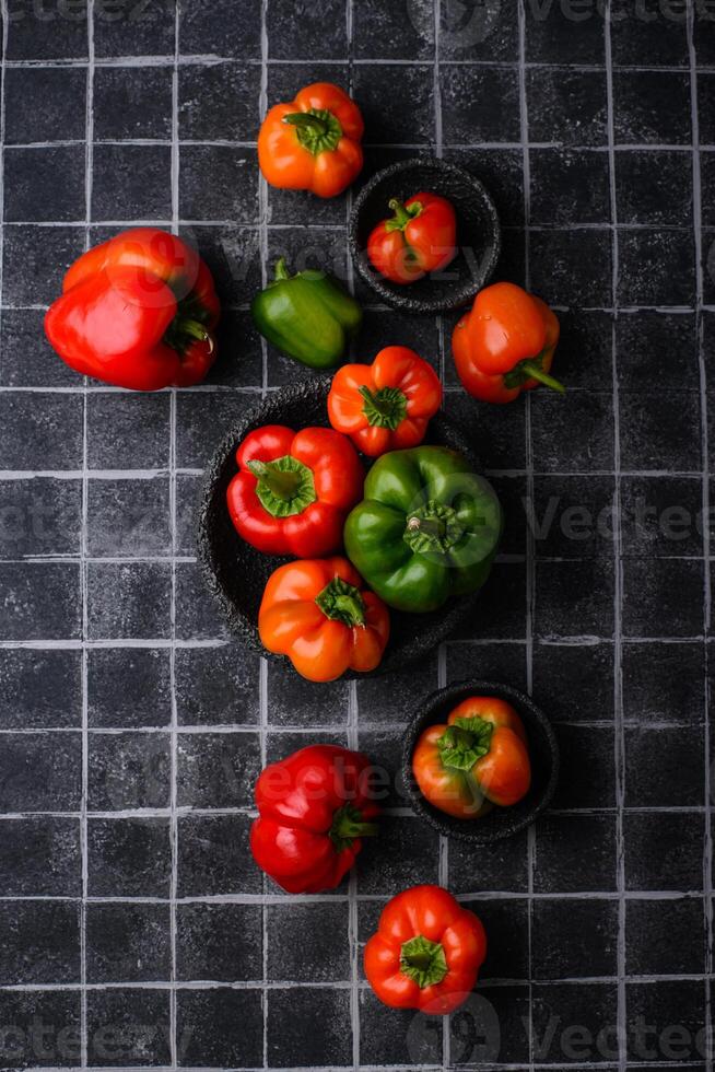
[[[434,301],[425,301],[423,299],[415,299],[410,294],[410,288],[403,287],[401,290],[396,292],[394,289],[396,284],[389,282],[389,280],[383,280],[373,266],[371,265],[367,254],[358,241],[358,234],[360,230],[360,213],[363,207],[380,183],[385,179],[392,178],[395,175],[400,175],[402,172],[410,171],[414,167],[434,167],[437,171],[443,171],[445,174],[450,174],[455,178],[459,178],[462,183],[471,186],[477,197],[479,197],[482,208],[487,218],[491,222],[492,233],[487,236],[485,247],[490,249],[489,259],[485,259],[481,272],[478,276],[470,275],[467,279],[456,280],[454,283],[454,289],[450,298],[435,299]],[[438,194],[439,190],[435,190]],[[490,279],[492,272],[496,267],[496,263],[500,258],[502,252],[502,231],[499,222],[499,213],[496,211],[496,206],[492,199],[491,194],[484,186],[484,184],[471,175],[464,167],[458,167],[456,164],[450,164],[438,156],[411,156],[409,160],[400,160],[395,164],[390,164],[388,167],[383,167],[382,171],[376,172],[371,179],[362,187],[358,196],[355,197],[353,209],[350,214],[350,221],[348,224],[348,245],[350,253],[352,255],[353,263],[358,269],[361,278],[364,282],[373,290],[382,301],[392,308],[399,308],[402,311],[409,311],[417,314],[437,314],[437,313],[449,313],[453,310],[460,308],[466,305],[474,296],[477,291],[481,290],[488,279]]]

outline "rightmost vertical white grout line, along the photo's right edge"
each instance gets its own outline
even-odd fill
[[[703,324],[703,240],[702,240],[702,182],[700,167],[700,116],[698,108],[698,57],[694,43],[693,4],[688,5],[688,54],[690,59],[690,101],[691,101],[691,135],[693,153],[693,235],[695,243],[695,308],[698,316],[698,366],[700,374],[700,420],[701,420],[701,452],[702,452],[702,510],[703,517],[710,518],[710,441],[707,429],[707,366],[704,350]],[[703,554],[711,554],[710,525],[703,526]],[[713,993],[713,832],[712,832],[712,771],[711,771],[711,731],[710,731],[710,644],[707,643],[711,625],[711,576],[705,569],[703,595],[703,637],[705,660],[705,840],[703,847],[703,925],[705,939],[705,1023],[712,1019]],[[705,1056],[706,1072],[713,1072],[713,1048],[707,1048]]]

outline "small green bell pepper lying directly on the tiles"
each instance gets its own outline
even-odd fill
[[[290,276],[285,260],[254,299],[254,324],[274,347],[310,369],[339,364],[362,324],[362,310],[337,279],[307,269]]]

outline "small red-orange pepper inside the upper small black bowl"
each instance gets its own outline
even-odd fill
[[[383,220],[367,240],[367,257],[394,283],[413,283],[446,268],[457,256],[457,218],[437,194],[415,194],[402,205],[392,198],[394,215]]]

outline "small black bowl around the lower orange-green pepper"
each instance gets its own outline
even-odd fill
[[[450,711],[469,696],[497,696],[520,715],[529,742],[531,788],[512,807],[494,807],[479,819],[458,819],[441,812],[422,795],[412,773],[412,753],[422,732],[446,722]],[[458,681],[427,697],[405,731],[402,779],[417,814],[439,834],[473,846],[492,844],[529,826],[550,803],[559,779],[559,745],[548,718],[525,692],[494,681]]]

